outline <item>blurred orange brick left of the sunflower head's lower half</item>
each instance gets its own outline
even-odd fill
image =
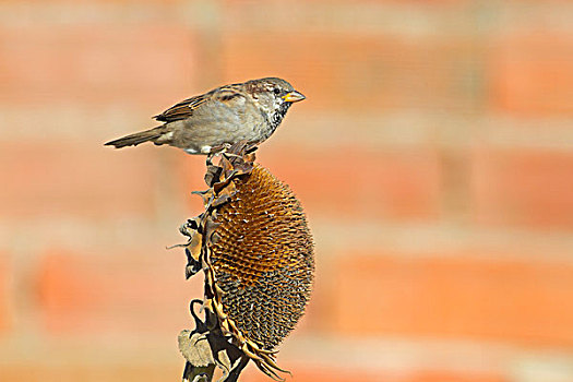
[[[45,329],[59,334],[174,333],[194,326],[189,301],[202,280],[186,282],[182,249],[130,253],[50,251],[37,282]]]

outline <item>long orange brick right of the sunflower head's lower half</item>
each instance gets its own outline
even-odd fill
[[[336,335],[573,345],[571,264],[479,255],[345,252],[332,275],[336,287],[324,322]]]

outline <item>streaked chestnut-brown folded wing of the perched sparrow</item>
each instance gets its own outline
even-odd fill
[[[183,99],[153,118],[162,122],[174,122],[191,117],[205,103],[218,100],[228,104],[231,100],[237,100],[238,97],[244,96],[234,85],[223,86],[208,93]]]

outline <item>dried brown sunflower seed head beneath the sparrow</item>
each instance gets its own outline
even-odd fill
[[[305,312],[313,243],[288,186],[235,145],[207,168],[205,212],[182,226],[187,276],[205,273],[204,303],[230,342],[278,378],[274,349]]]

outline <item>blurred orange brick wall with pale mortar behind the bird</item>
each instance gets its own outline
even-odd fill
[[[0,2],[0,380],[171,381],[203,159],[103,143],[265,75],[305,204],[295,381],[573,381],[573,4]],[[263,381],[250,369],[246,380]]]

